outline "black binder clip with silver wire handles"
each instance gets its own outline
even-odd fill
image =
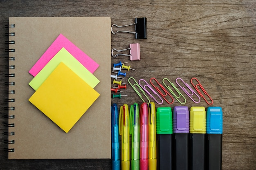
[[[113,26],[117,27],[124,27],[124,26],[130,26],[130,25],[135,25],[135,32],[131,31],[116,31],[114,32],[112,30]],[[123,25],[123,26],[118,26],[116,24],[113,24],[111,26],[111,32],[112,34],[118,33],[118,32],[123,32],[123,33],[133,33],[135,34],[135,39],[147,39],[147,18],[135,18],[135,23],[133,24],[128,24],[128,25]]]

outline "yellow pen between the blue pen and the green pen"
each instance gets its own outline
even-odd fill
[[[121,169],[130,170],[130,132],[128,105],[120,107],[119,135],[121,135]]]

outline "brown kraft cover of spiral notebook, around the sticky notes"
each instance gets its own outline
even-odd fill
[[[110,26],[110,17],[9,18],[9,159],[111,158]],[[99,97],[67,133],[29,102],[29,70],[59,35],[99,64]]]

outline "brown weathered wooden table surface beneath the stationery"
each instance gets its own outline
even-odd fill
[[[141,60],[112,57],[113,62],[128,62],[136,71],[127,72],[136,80],[155,77],[175,82],[181,77],[190,84],[198,78],[213,99],[212,106],[223,110],[223,170],[256,169],[256,2],[255,0],[1,0],[0,1],[0,169],[37,170],[110,170],[110,159],[8,160],[3,135],[7,127],[8,73],[4,28],[8,17],[110,16],[112,24],[125,25],[134,18],[146,17],[148,39],[135,40],[134,35],[112,35],[112,48],[126,49],[139,43]],[[123,29],[122,29],[123,30]],[[134,26],[126,30],[134,31]],[[36,50],[36,49],[35,49]],[[125,52],[128,54],[128,51]],[[111,57],[111,56],[109,56]],[[110,66],[111,67],[111,66]],[[175,84],[177,86],[177,84]],[[191,84],[190,84],[191,85]],[[182,92],[183,93],[183,92]],[[128,86],[128,95],[112,103],[131,105],[142,101]],[[184,94],[184,93],[183,93]],[[184,94],[185,95],[185,94]],[[186,96],[186,106],[208,107]],[[179,106],[164,102],[159,106]],[[28,146],[29,147],[29,146]]]

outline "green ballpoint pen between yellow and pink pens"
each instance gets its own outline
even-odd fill
[[[132,135],[131,169],[139,170],[139,105],[130,106],[130,134]]]

